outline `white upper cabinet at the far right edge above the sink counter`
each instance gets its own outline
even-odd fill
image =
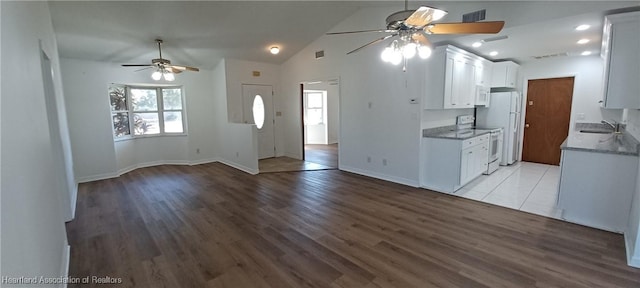
[[[604,20],[605,108],[640,108],[640,11],[609,15]]]

